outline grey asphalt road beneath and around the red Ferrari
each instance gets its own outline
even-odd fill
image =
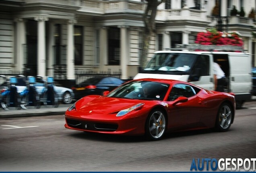
[[[161,141],[72,131],[64,115],[0,119],[0,171],[190,171],[193,158],[256,158],[255,124],[256,101],[236,110],[228,132]]]

